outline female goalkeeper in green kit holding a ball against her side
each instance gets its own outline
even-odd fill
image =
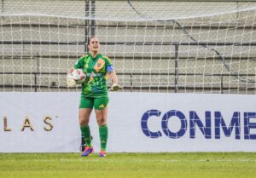
[[[79,104],[79,123],[82,137],[86,143],[82,157],[93,152],[90,137],[90,113],[92,109],[96,112],[96,121],[99,126],[101,152],[100,157],[106,156],[108,141],[108,88],[107,80],[112,79],[112,87],[109,90],[115,91],[120,88],[118,78],[113,69],[112,61],[105,55],[99,54],[100,43],[97,37],[90,37],[88,40],[89,55],[84,55],[76,62],[73,69],[83,69],[86,73],[86,80],[82,83],[82,93]],[[67,86],[72,87],[74,81],[67,78]]]

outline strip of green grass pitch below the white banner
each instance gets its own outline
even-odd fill
[[[104,178],[250,178],[256,176],[256,153],[0,153],[0,177]]]

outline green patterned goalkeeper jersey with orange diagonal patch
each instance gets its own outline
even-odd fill
[[[83,69],[86,80],[82,83],[82,94],[85,97],[108,97],[107,69],[113,69],[112,61],[104,55],[84,55],[74,65],[75,69]]]

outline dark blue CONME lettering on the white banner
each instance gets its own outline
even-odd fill
[[[243,117],[241,117],[241,113]],[[206,111],[204,119],[201,119],[195,111],[189,111],[189,118],[186,118],[183,112],[177,110],[168,111],[162,117],[161,115],[162,112],[156,109],[143,113],[141,127],[144,135],[150,138],[159,138],[164,133],[172,139],[178,139],[189,131],[189,137],[193,139],[197,128],[200,129],[201,134],[206,139],[212,139],[212,133],[215,139],[220,139],[222,132],[224,136],[230,136],[232,132],[235,132],[236,140],[256,140],[256,112],[233,112],[230,123],[226,123],[223,114],[218,111]],[[148,120],[153,116],[161,119],[160,126],[162,130],[152,131],[148,128]],[[168,127],[168,122],[172,118],[178,118],[180,122],[180,128],[176,131]],[[243,130],[242,133],[241,130]]]

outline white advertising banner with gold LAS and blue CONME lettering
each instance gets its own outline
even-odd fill
[[[256,152],[256,95],[110,93],[108,152]],[[79,152],[79,93],[0,93],[0,152]],[[91,113],[93,146],[100,141]]]

